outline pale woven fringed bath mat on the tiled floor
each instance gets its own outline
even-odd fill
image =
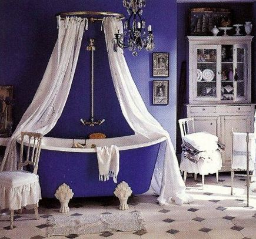
[[[104,213],[82,216],[56,215],[48,217],[47,235],[93,234],[104,231],[145,230],[141,214]]]

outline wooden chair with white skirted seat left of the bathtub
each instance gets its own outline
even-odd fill
[[[11,211],[11,229],[14,223],[14,210],[34,205],[36,219],[39,218],[38,202],[41,199],[41,188],[37,170],[42,137],[39,133],[22,132],[18,170],[0,173],[0,208],[8,208]],[[28,146],[25,159],[24,145]],[[24,166],[32,166],[33,173],[23,170]]]

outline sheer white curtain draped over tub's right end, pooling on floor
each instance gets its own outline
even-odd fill
[[[158,201],[160,204],[168,204],[172,199],[177,204],[189,203],[192,197],[185,194],[185,184],[179,172],[178,160],[169,133],[148,112],[129,72],[122,49],[113,51],[114,33],[117,29],[123,31],[122,22],[108,17],[104,19],[103,24],[111,75],[125,119],[135,134],[152,139],[161,136],[167,138],[166,144],[161,146],[162,150],[160,150],[151,183],[154,190],[159,193]],[[165,153],[162,153],[163,150]]]

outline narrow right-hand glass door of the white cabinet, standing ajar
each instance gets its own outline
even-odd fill
[[[235,100],[241,101],[247,99],[247,62],[246,62],[247,47],[245,45],[234,45],[235,67]]]

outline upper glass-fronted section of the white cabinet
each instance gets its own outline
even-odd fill
[[[251,102],[252,36],[188,36],[189,103]]]

